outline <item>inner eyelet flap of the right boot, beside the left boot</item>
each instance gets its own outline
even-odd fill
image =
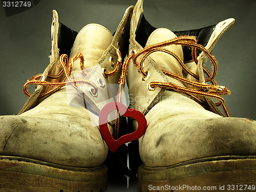
[[[139,2],[134,7],[133,16],[131,19],[129,54],[132,54],[134,50],[138,52],[143,49],[143,47],[135,39],[137,25],[142,12],[142,2]],[[146,81],[141,81],[142,76],[138,73],[138,69],[134,65],[133,61],[130,61],[129,66],[127,67],[127,73],[129,74],[127,76],[127,86],[129,87],[130,107],[140,110],[145,115],[158,102],[162,93],[165,91],[165,88],[157,87],[155,91],[148,92],[148,83],[153,80],[167,82],[167,79],[164,74],[159,70],[155,61],[153,61],[152,59],[149,58],[145,60],[144,64],[145,70],[150,70],[150,73],[152,75],[147,78]],[[146,95],[145,93],[147,93],[148,95]],[[136,97],[140,99],[140,103],[136,102]],[[143,100],[141,100],[142,98]]]

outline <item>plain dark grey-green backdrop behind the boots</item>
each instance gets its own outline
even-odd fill
[[[136,0],[42,0],[34,8],[6,17],[0,8],[0,115],[17,114],[27,101],[23,84],[49,64],[52,10],[60,22],[79,32],[99,23],[115,32],[124,11]],[[197,29],[233,17],[236,22],[216,44],[217,82],[231,90],[225,98],[231,116],[256,120],[256,1],[145,0],[144,15],[154,27],[173,31]],[[112,188],[111,188],[112,187]],[[125,189],[125,183],[121,188]],[[110,185],[107,191],[114,191]],[[127,191],[136,191],[136,183]]]

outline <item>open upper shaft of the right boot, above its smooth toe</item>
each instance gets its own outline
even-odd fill
[[[172,54],[175,54],[177,58],[173,58],[172,54],[162,53],[163,51],[151,53],[145,59],[143,65],[143,70],[146,71],[146,78],[141,78],[142,72],[140,72],[138,62],[142,55],[137,59],[137,63],[133,64],[131,62],[128,66],[128,74],[133,74],[132,77],[127,77],[127,84],[129,86],[129,94],[131,98],[131,108],[139,109],[143,114],[146,114],[161,98],[164,92],[166,92],[165,87],[151,87],[151,82],[160,82],[163,84],[171,83],[175,91],[179,91],[179,89],[192,88],[192,89],[202,89],[197,88],[195,86],[190,86],[187,83],[184,83],[181,80],[177,80],[177,78],[173,79],[172,76],[167,75],[171,73],[172,75],[179,76],[180,78],[186,78],[188,80],[193,80],[197,83],[203,84],[206,83],[206,80],[209,81],[209,78],[204,77],[205,68],[204,65],[209,57],[209,52],[212,51],[212,48],[219,40],[220,36],[232,25],[234,19],[226,19],[217,25],[209,26],[206,28],[201,28],[197,30],[188,30],[188,31],[175,31],[171,32],[167,29],[156,29],[148,23],[143,15],[142,8],[143,1],[138,1],[134,8],[134,13],[131,21],[131,38],[130,38],[130,47],[129,53],[137,53],[140,50],[143,50],[143,46],[147,47],[148,45],[164,42],[169,39],[175,39],[176,35],[182,36],[184,35],[197,35],[195,38],[198,41],[199,46],[204,49],[208,55],[204,52],[198,52],[193,60],[191,60],[191,47],[183,46],[182,51],[181,47],[179,49],[170,49],[169,46],[161,47],[163,49],[168,49],[168,51],[172,51]],[[189,37],[188,37],[189,38]],[[190,41],[190,40],[189,40]],[[184,43],[183,43],[184,44]],[[172,45],[173,46],[173,45]],[[174,47],[178,47],[175,45]],[[145,48],[144,48],[145,49]],[[155,49],[155,48],[154,48]],[[200,48],[201,49],[201,48]],[[179,51],[178,51],[179,50]],[[183,56],[182,53],[183,52]],[[193,53],[193,52],[192,52]],[[143,53],[144,54],[144,53]],[[215,62],[215,59],[210,58]],[[177,62],[177,60],[180,60]],[[197,63],[196,63],[197,62]],[[180,66],[179,63],[183,63],[184,66]],[[137,69],[138,68],[138,69]],[[184,70],[186,69],[186,70]],[[168,72],[169,71],[169,72]],[[187,71],[190,71],[189,74]],[[166,73],[167,72],[167,73]],[[141,73],[141,74],[140,74]],[[190,75],[193,74],[193,76]],[[207,74],[208,75],[208,74]],[[216,75],[216,71],[212,72],[210,75],[211,79],[213,79]],[[145,77],[145,76],[144,76]],[[197,77],[196,79],[194,77]],[[180,87],[180,88],[179,88]],[[221,90],[223,87],[220,88]],[[229,94],[228,90],[224,94]],[[202,92],[201,92],[202,93]],[[168,93],[164,93],[168,94]],[[170,93],[171,94],[171,93]],[[186,93],[187,94],[187,93]],[[187,96],[188,95],[188,96]],[[191,94],[184,95],[188,98],[195,98]],[[202,93],[202,95],[204,95]],[[165,95],[166,96],[166,95]],[[200,99],[201,98],[201,99]],[[200,101],[202,100],[202,102]],[[214,101],[208,97],[201,97],[199,94],[198,98],[195,98],[195,101],[199,102],[208,110],[225,116],[222,112],[217,108]],[[223,105],[224,106],[224,105]],[[224,112],[226,115],[229,115],[226,108],[224,108]]]

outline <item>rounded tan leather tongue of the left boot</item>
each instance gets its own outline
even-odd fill
[[[73,58],[77,53],[81,53],[84,58],[84,67],[92,67],[111,45],[112,39],[113,35],[108,29],[101,25],[89,24],[77,34],[70,58]],[[80,60],[77,59],[74,62],[72,75],[80,70]]]

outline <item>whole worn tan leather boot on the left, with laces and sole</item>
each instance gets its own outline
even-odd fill
[[[97,125],[98,113],[117,94],[132,10],[127,8],[114,36],[97,24],[77,33],[53,11],[50,64],[25,84],[30,98],[19,114],[0,117],[1,191],[106,188],[109,148]],[[29,84],[37,85],[32,94]]]

